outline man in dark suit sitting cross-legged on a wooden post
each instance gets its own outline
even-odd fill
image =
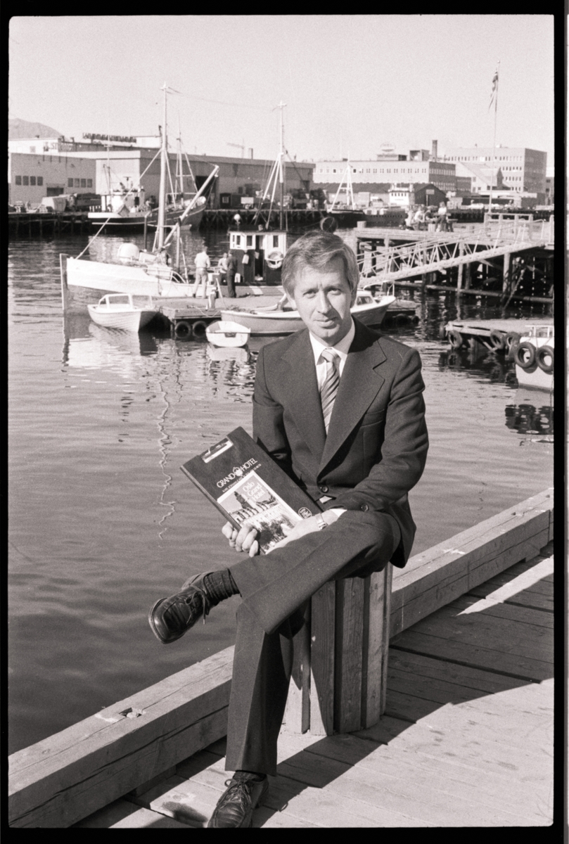
[[[226,524],[245,558],[193,576],[149,614],[160,641],[175,641],[219,600],[243,598],[225,759],[236,773],[214,827],[250,826],[276,772],[293,638],[308,599],[329,580],[408,560],[415,523],[407,494],[428,449],[419,354],[351,316],[359,273],[350,247],[326,232],[304,235],[287,252],[282,279],[306,330],[260,350],[253,436],[323,511],[263,556],[254,530]]]

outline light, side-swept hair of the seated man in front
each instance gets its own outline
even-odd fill
[[[340,258],[344,263],[346,281],[350,284],[350,289],[355,290],[360,280],[360,272],[350,246],[344,243],[341,237],[328,231],[306,232],[306,235],[299,237],[286,252],[280,276],[285,293],[291,299],[294,298],[296,279],[306,267],[322,270],[335,258]]]

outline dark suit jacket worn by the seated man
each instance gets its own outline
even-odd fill
[[[257,358],[253,436],[325,508],[390,513],[401,529],[393,565],[415,537],[407,493],[425,468],[425,385],[415,349],[355,322],[328,427],[307,329],[263,346]]]

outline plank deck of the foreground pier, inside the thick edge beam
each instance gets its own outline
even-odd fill
[[[550,550],[513,565],[397,637],[390,648],[387,713],[374,727],[325,738],[282,732],[277,776],[270,778],[253,826],[550,825],[552,642],[544,636],[550,612],[528,615],[519,603],[526,591],[552,586]],[[427,624],[431,633],[422,634],[424,651],[415,652],[414,636]],[[488,669],[470,663],[468,655],[456,662],[431,654],[428,645],[435,638],[451,653],[452,643],[462,643],[496,658]],[[522,657],[531,651],[534,662],[543,663],[545,679],[513,677],[507,658],[512,647]],[[224,755],[221,739],[146,793],[128,795],[132,823],[121,801],[109,808],[108,820],[100,812],[78,826],[137,827],[145,810],[149,826],[162,817],[203,827],[230,776]]]

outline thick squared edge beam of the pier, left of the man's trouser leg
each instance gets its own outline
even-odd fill
[[[232,662],[226,648],[10,756],[10,825],[70,826],[224,735]]]

